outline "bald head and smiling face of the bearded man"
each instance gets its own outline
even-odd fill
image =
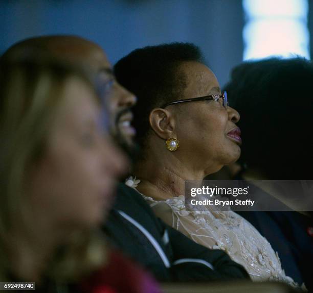
[[[119,141],[131,144],[135,131],[129,125],[129,108],[135,104],[136,98],[115,81],[111,65],[99,45],[78,36],[40,36],[14,44],[1,60],[28,54],[36,58],[43,55],[58,59],[91,72],[110,113],[111,133]]]

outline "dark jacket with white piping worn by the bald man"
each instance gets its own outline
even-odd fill
[[[103,230],[113,245],[159,281],[249,279],[244,268],[221,250],[198,245],[157,218],[135,189],[119,184]]]

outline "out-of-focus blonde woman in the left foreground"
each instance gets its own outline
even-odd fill
[[[118,292],[107,280],[112,263],[149,280],[106,253],[97,229],[127,164],[106,135],[92,81],[51,60],[0,66],[0,280]]]

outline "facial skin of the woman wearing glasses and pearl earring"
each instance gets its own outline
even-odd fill
[[[218,81],[207,66],[184,62],[180,70],[187,79],[182,99],[221,94]],[[202,166],[210,174],[239,158],[241,142],[230,133],[237,128],[239,114],[231,107],[226,110],[222,99],[182,103],[176,117],[181,149],[196,168]]]

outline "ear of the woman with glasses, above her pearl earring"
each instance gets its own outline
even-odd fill
[[[173,114],[161,108],[155,108],[150,112],[149,123],[153,131],[161,138],[174,137],[175,119]]]

